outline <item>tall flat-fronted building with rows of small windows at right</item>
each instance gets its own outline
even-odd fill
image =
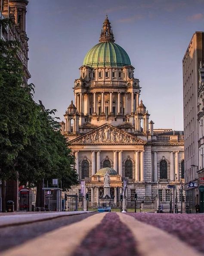
[[[200,204],[198,170],[201,170],[202,138],[202,82],[198,91],[199,67],[204,60],[204,32],[195,32],[182,60],[185,150],[185,199],[187,212],[195,212]],[[202,70],[201,70],[202,73]],[[199,95],[198,95],[199,94]],[[201,105],[200,105],[201,103]],[[201,120],[200,120],[201,118]],[[198,119],[198,120],[197,120]]]

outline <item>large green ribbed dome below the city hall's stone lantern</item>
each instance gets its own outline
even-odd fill
[[[124,67],[131,65],[127,52],[114,42],[101,42],[87,52],[83,66]]]

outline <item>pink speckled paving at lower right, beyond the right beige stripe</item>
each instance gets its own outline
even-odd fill
[[[204,214],[128,213],[128,215],[161,228],[204,253]]]

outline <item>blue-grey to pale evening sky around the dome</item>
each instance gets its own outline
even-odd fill
[[[204,0],[30,0],[28,68],[35,101],[64,119],[79,67],[98,43],[106,14],[115,43],[135,67],[154,128],[183,130],[182,58],[194,32],[204,31]]]

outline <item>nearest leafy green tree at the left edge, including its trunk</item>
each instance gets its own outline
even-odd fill
[[[0,40],[0,179],[5,211],[7,179],[16,178],[15,159],[30,143],[37,118],[32,86],[23,87],[23,68],[18,43]]]

